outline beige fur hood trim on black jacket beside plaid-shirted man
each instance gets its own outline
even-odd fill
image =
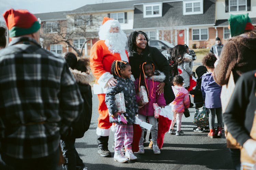
[[[75,81],[77,83],[89,84],[94,79],[93,74],[91,74],[91,73],[88,74],[86,72],[81,72],[79,70],[71,69],[71,68],[69,68],[69,70],[74,75]]]

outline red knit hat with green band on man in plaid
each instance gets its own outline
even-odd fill
[[[9,29],[10,37],[32,34],[40,29],[40,23],[37,21],[37,17],[27,10],[10,9],[5,11],[3,17]]]

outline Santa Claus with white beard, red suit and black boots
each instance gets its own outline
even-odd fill
[[[120,23],[117,20],[104,17],[99,31],[99,39],[90,50],[90,67],[96,78],[93,90],[99,98],[99,118],[96,133],[98,135],[98,153],[103,157],[110,157],[108,140],[112,123],[109,122],[105,92],[109,86],[115,86],[117,83],[110,73],[113,61],[128,62],[128,53],[125,49],[127,37],[120,29]]]

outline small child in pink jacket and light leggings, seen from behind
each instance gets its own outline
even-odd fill
[[[182,87],[184,82],[184,79],[180,75],[176,75],[173,78],[173,84],[172,90],[175,95],[175,99],[171,102],[172,106],[172,112],[173,112],[173,118],[172,123],[170,126],[169,133],[175,134],[175,130],[173,129],[174,123],[177,120],[177,131],[176,135],[181,136],[184,135],[184,133],[181,131],[181,119],[183,112],[185,111],[185,108],[189,108],[189,97],[188,97],[188,91],[184,87]]]

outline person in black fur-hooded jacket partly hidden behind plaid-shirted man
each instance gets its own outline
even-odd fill
[[[79,157],[75,149],[75,139],[82,138],[89,129],[92,113],[92,94],[89,83],[93,81],[93,75],[89,73],[87,66],[89,60],[81,58],[77,61],[74,53],[67,52],[63,54],[69,65],[69,70],[73,74],[76,83],[79,86],[81,96],[84,100],[83,112],[80,113],[77,121],[72,124],[72,133],[67,138],[60,140],[61,149],[65,158],[63,169],[85,168],[83,160]]]

